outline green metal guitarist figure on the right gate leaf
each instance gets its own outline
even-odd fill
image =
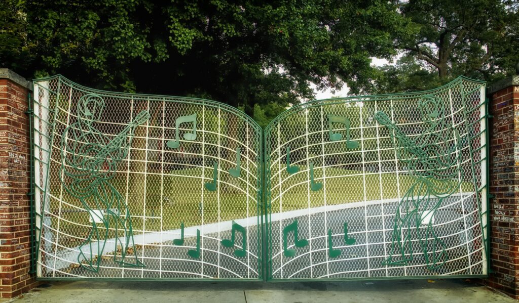
[[[441,98],[425,96],[419,99],[421,118],[427,131],[415,139],[402,133],[383,111],[375,114],[381,125],[391,129],[400,161],[408,165],[415,183],[404,194],[397,207],[387,265],[408,265],[413,260],[411,230],[426,224],[419,243],[430,270],[441,267],[448,259],[446,244],[433,227],[436,210],[443,201],[459,190],[463,171],[459,168],[461,140],[458,132],[445,121],[445,105]],[[449,148],[442,142],[454,140]],[[433,203],[435,201],[435,203]],[[424,221],[426,221],[424,223]]]

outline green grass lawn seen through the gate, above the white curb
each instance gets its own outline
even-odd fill
[[[300,167],[302,170],[305,167]],[[204,176],[211,177],[212,169],[206,168]],[[127,205],[132,214],[132,225],[135,234],[140,234],[142,230],[146,232],[158,232],[160,230],[170,230],[180,228],[180,223],[185,226],[201,225],[202,223],[215,223],[230,221],[233,219],[254,217],[257,213],[256,193],[253,186],[249,186],[249,193],[252,196],[247,203],[247,195],[235,187],[220,183],[219,193],[210,192],[203,189],[202,180],[193,176],[201,176],[202,168],[190,168],[183,170],[171,170],[165,174],[175,174],[177,176],[164,176],[148,174],[146,178],[142,174],[130,174],[128,181],[128,200]],[[234,184],[243,190],[247,189],[244,181],[231,178],[228,174],[220,173],[223,181]],[[308,207],[308,197],[310,197],[310,207],[324,206],[324,193],[326,192],[326,205],[337,205],[353,203],[365,200],[391,199],[401,197],[415,182],[415,178],[408,175],[397,175],[394,172],[377,174],[366,174],[364,177],[361,172],[342,168],[326,168],[325,186],[318,192],[308,190],[307,172],[302,171],[289,177],[285,170],[281,172],[283,181],[282,189],[282,211],[304,209]],[[315,170],[316,182],[323,182],[323,170]],[[251,179],[252,180],[252,179]],[[203,182],[209,182],[204,180]],[[275,180],[277,181],[277,179]],[[117,189],[119,194],[126,199],[127,175],[118,174],[111,184]],[[301,183],[298,184],[297,183]],[[251,182],[255,184],[254,182]],[[146,184],[144,186],[144,184]],[[161,186],[161,184],[163,184]],[[274,184],[273,184],[274,185]],[[291,189],[291,187],[294,185]],[[471,191],[470,183],[462,183],[463,191]],[[162,188],[162,193],[161,193]],[[59,197],[60,183],[51,184],[53,195]],[[400,189],[400,191],[399,191]],[[145,190],[145,191],[144,191]],[[200,197],[203,194],[203,218],[200,212]],[[272,190],[271,212],[279,212],[280,199],[279,188]],[[145,197],[145,203],[144,203]],[[80,201],[63,191],[63,199],[72,205],[83,208]],[[218,210],[218,204],[220,210]],[[59,212],[59,202],[51,198],[51,211]],[[249,209],[247,209],[249,206]],[[61,220],[60,230],[65,233],[78,237],[85,237],[90,232],[91,224],[88,222],[87,212],[70,212],[74,208],[66,205],[61,206],[60,217],[74,223],[84,224],[87,227]],[[145,217],[145,218],[142,218]],[[159,218],[152,218],[159,217]],[[160,220],[160,217],[162,220]],[[144,220],[145,219],[145,220]],[[202,222],[203,220],[203,222]],[[56,228],[57,220],[53,221]],[[102,225],[99,224],[101,227]],[[113,237],[110,233],[109,237]],[[72,241],[72,240],[71,240]]]

